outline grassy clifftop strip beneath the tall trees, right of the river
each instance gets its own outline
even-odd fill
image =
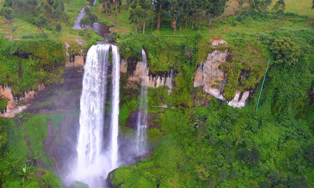
[[[308,3],[310,5],[310,3]],[[102,13],[101,5],[97,3],[94,6],[94,11],[97,11],[97,15],[101,18],[104,18],[114,24],[119,25],[120,27],[127,29],[133,33],[135,33],[135,26],[133,24],[130,24],[128,17],[129,12],[125,10],[125,7],[121,7],[121,12],[117,13],[117,16],[115,16],[114,9],[112,9],[111,15],[106,16],[106,12]],[[313,11],[314,13],[314,11]],[[208,29],[208,25],[206,20],[203,19],[201,24],[200,30],[192,30],[192,22],[188,22],[187,28],[184,27],[184,24],[180,30],[180,27],[177,29],[176,35],[192,35],[196,32],[199,32],[203,37],[205,38],[211,38],[211,39],[227,39],[228,33],[255,33],[255,32],[265,32],[270,31],[278,28],[283,27],[290,27],[290,26],[306,26],[310,25],[310,20],[305,20],[302,18],[284,18],[284,19],[258,19],[258,18],[247,18],[241,22],[236,22],[236,25],[233,25],[232,23],[235,20],[234,18],[230,18],[227,20],[223,20],[220,22],[214,22],[212,24],[212,27]],[[103,21],[99,19],[101,23],[109,24],[106,21]],[[159,34],[161,35],[173,35],[174,28],[171,27],[170,24],[171,20],[164,20],[161,23]],[[110,25],[110,24],[109,24]],[[199,23],[194,22],[194,27],[198,28]],[[111,28],[111,31],[117,31],[120,33],[127,33],[126,30],[123,30],[118,27]],[[153,30],[151,30],[151,22],[146,23],[146,29],[145,34],[154,34],[156,31],[156,23],[153,24]],[[142,30],[138,29],[138,34],[143,34]]]

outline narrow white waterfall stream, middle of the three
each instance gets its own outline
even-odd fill
[[[112,111],[111,111],[111,168],[117,168],[119,133],[120,55],[112,45]]]

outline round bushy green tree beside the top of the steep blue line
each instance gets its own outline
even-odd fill
[[[283,66],[297,63],[301,55],[300,46],[287,37],[275,39],[270,49],[275,54],[275,63]]]

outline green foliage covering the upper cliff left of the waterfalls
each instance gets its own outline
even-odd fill
[[[64,45],[56,40],[0,38],[0,85],[10,85],[13,94],[37,89],[39,83],[62,83],[66,60]]]

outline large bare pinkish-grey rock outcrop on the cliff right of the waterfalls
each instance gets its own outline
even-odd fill
[[[215,48],[218,44],[226,43],[224,40],[213,41],[211,46]],[[198,66],[195,74],[193,87],[203,86],[203,91],[225,101],[223,95],[224,85],[226,84],[226,73],[220,67],[226,62],[228,50],[214,50],[208,54],[207,59]],[[251,91],[236,91],[235,97],[228,101],[228,105],[232,107],[242,108],[245,106],[246,100],[250,97]]]

